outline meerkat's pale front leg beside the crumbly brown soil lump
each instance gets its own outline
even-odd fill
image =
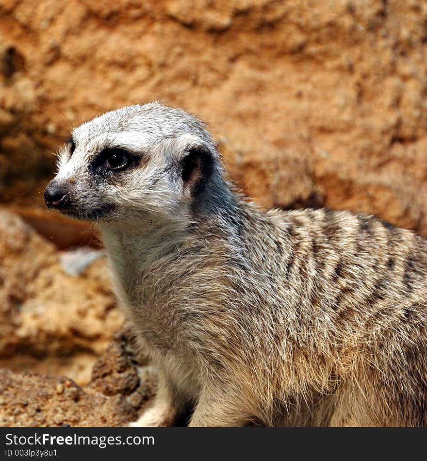
[[[168,385],[163,371],[159,371],[157,393],[151,405],[136,421],[128,424],[133,428],[153,428],[173,426],[178,412],[180,402]]]

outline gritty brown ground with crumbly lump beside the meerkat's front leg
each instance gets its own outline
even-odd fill
[[[0,369],[0,426],[124,426],[144,410],[155,388],[151,367],[137,370],[128,337],[116,335],[85,387],[71,379]]]

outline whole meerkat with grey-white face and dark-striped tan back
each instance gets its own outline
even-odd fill
[[[427,245],[373,216],[268,210],[205,125],[154,102],[59,152],[46,205],[95,221],[158,367],[133,426],[425,426]]]

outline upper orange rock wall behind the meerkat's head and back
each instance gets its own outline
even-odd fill
[[[40,203],[71,124],[160,99],[263,205],[427,234],[426,23],[419,0],[3,1],[0,195]]]

